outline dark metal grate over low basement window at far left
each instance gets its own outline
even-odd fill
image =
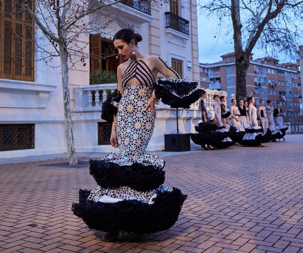
[[[34,124],[0,124],[0,151],[34,148]]]

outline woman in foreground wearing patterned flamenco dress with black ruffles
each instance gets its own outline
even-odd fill
[[[108,96],[102,118],[113,121],[111,144],[119,151],[90,160],[90,175],[99,186],[80,189],[80,203],[72,206],[89,228],[107,232],[104,241],[117,240],[119,231],[144,238],[148,233],[169,229],[178,220],[187,197],[179,189],[163,185],[165,161],[145,152],[155,124],[153,90],[159,86],[155,77],[158,72],[166,77],[180,76],[161,58],[141,53],[137,43],[142,37],[138,33],[122,29],[113,40],[119,54],[129,60],[117,69],[122,97],[119,93]],[[193,103],[200,96],[200,91],[194,91],[184,99]]]

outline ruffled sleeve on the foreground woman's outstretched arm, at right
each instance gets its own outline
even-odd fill
[[[166,80],[159,80],[155,86],[155,95],[158,99],[172,108],[190,108],[190,105],[196,102],[206,92],[197,88],[197,82],[189,82],[189,78],[181,79],[180,75],[168,66],[161,58],[160,60],[174,72],[177,78],[169,77]]]

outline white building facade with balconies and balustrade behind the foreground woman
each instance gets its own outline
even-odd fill
[[[15,2],[12,1],[12,5]],[[183,78],[199,81],[197,14],[194,5],[195,1],[188,5],[185,0],[171,0],[159,7],[137,1],[122,1],[115,8],[120,9],[121,17],[142,35],[143,41],[138,45],[142,52],[161,56]],[[1,19],[1,23],[8,21],[3,15]],[[20,63],[25,67],[22,65],[20,75],[16,75],[18,66],[16,59],[13,59],[14,45],[11,45],[11,51],[5,50],[8,41],[14,40],[14,34],[10,37],[7,26],[1,27],[1,34],[5,34],[6,39],[2,36],[0,44],[0,158],[66,152],[61,68],[34,61],[39,55],[32,46],[30,60]],[[34,25],[32,27],[35,29]],[[105,46],[110,47],[110,39],[119,29],[117,23],[113,22],[107,30],[82,39],[84,43],[92,38],[97,39],[99,45],[103,46],[99,48],[102,56],[102,50]],[[92,51],[92,48],[89,50]],[[9,56],[12,60],[8,60]],[[115,59],[112,58],[111,62],[109,58],[96,67],[115,70]],[[76,152],[111,152],[114,148],[108,142],[110,126],[100,119],[100,110],[107,92],[116,89],[117,84],[89,85],[92,66],[88,63],[69,69]],[[58,66],[59,59],[54,59],[52,65]],[[10,75],[7,74],[8,70],[11,71]],[[197,104],[192,105],[191,109],[179,110],[181,133],[194,132],[194,125],[200,118]],[[161,102],[157,106],[156,128],[148,150],[164,149],[164,134],[176,131],[176,111]]]

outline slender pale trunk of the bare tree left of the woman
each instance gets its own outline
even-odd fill
[[[72,130],[72,114],[71,102],[69,94],[69,80],[68,80],[68,52],[66,50],[65,41],[58,44],[61,62],[61,76],[63,88],[63,103],[64,103],[64,122],[67,141],[67,152],[70,165],[77,165],[77,157],[74,144],[74,136]]]

